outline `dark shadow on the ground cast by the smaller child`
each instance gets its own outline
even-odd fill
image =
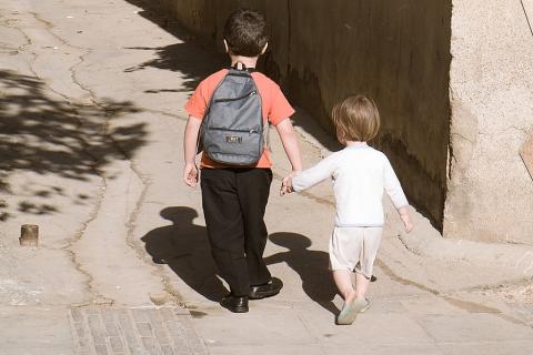
[[[273,233],[269,239],[289,251],[265,257],[266,265],[286,263],[300,275],[305,294],[336,315],[339,308],[333,304],[336,287],[328,267],[328,253],[310,251],[308,247],[312,245],[311,240],[298,233]]]

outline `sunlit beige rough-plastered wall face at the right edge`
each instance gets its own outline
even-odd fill
[[[454,0],[451,48],[444,235],[531,245],[533,181],[519,150],[533,133],[533,36],[520,1]]]

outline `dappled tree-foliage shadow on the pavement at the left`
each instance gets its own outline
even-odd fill
[[[145,142],[143,123],[109,128],[113,119],[138,112],[129,101],[101,99],[79,104],[52,99],[40,79],[0,70],[0,192],[10,193],[9,174],[31,171],[40,175],[87,181],[113,160],[128,159]],[[0,220],[13,211],[30,214],[59,212],[36,199],[63,194],[61,186],[39,187],[29,201],[0,203]]]

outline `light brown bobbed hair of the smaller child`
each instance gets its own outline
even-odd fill
[[[341,143],[370,141],[380,130],[380,112],[374,101],[362,94],[350,95],[335,104],[331,120]]]

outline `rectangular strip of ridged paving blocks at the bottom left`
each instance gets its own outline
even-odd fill
[[[180,310],[73,307],[69,312],[79,355],[204,355],[190,315]]]

